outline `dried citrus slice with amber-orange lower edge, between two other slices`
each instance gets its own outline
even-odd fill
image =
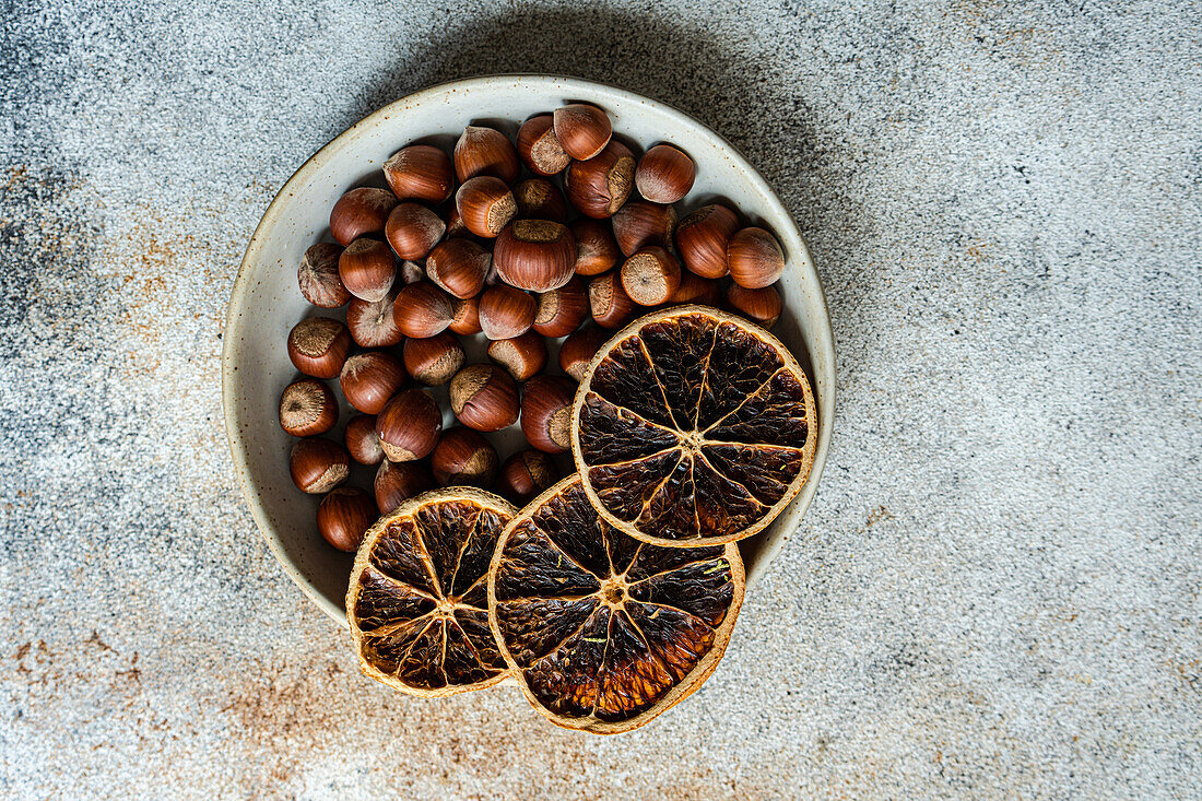
[[[488,577],[501,653],[538,712],[636,729],[714,672],[743,603],[738,546],[665,548],[603,520],[579,475],[505,527]]]

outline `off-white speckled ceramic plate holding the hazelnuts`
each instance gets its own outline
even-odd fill
[[[230,298],[222,354],[226,431],[246,503],[272,552],[293,581],[331,617],[345,624],[343,599],[352,554],[326,545],[317,534],[319,498],[304,496],[288,477],[292,438],[278,422],[279,397],[296,378],[285,340],[308,314],[340,313],[310,307],[297,289],[297,265],[305,248],[328,239],[329,209],[349,189],[382,185],[379,170],[400,147],[426,141],[450,149],[469,123],[501,127],[511,136],[520,120],[569,101],[605,108],[625,141],[641,148],[677,144],[697,162],[694,190],[679,206],[688,210],[725,197],[750,220],[772,229],[785,250],[780,281],[785,313],[773,330],[809,373],[819,411],[819,440],[809,481],[793,503],[757,536],[742,544],[748,586],[763,575],[797,529],[817,487],[831,441],[834,411],[834,342],[822,286],[805,242],[764,179],[730,143],[697,120],[638,95],[603,84],[551,76],[495,76],[442,84],[381,108],[323,147],[288,179],[263,214],[243,259]],[[338,310],[340,312],[340,310]],[[481,360],[481,349],[469,358]],[[445,400],[445,398],[442,398]],[[442,403],[446,408],[446,403]],[[349,419],[343,405],[340,438]],[[520,432],[496,440],[502,457],[517,450]],[[370,487],[371,471],[355,480]]]

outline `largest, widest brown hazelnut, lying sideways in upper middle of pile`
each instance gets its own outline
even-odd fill
[[[511,286],[535,292],[559,289],[572,277],[576,238],[559,222],[516,220],[496,237],[493,263]]]

